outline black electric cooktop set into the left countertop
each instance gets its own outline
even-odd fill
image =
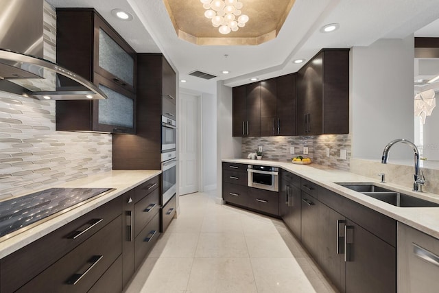
[[[8,238],[5,235],[23,232],[38,221],[49,220],[51,215],[69,211],[88,199],[112,190],[114,189],[51,188],[0,202],[0,242]]]

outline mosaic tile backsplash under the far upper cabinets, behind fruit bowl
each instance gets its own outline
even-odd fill
[[[308,148],[308,154],[314,163],[336,169],[349,170],[351,157],[351,136],[349,134],[324,134],[308,137],[243,137],[241,156],[246,159],[250,152],[256,152],[262,145],[263,159],[271,161],[291,161],[294,156],[304,155],[303,148]],[[294,154],[290,148],[294,147]],[[327,156],[327,148],[331,149]],[[346,150],[347,159],[340,159],[340,150]]]

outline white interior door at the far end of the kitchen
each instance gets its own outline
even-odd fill
[[[180,93],[180,196],[199,191],[200,97]]]

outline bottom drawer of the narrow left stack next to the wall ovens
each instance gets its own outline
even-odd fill
[[[160,216],[157,213],[154,218],[147,224],[145,228],[139,233],[139,235],[134,239],[134,266],[137,270],[147,253],[154,247],[160,232]]]

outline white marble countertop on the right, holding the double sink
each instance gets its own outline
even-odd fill
[[[281,167],[289,172],[297,174],[298,176],[305,178],[313,183],[334,191],[345,198],[349,198],[363,204],[370,209],[379,211],[388,217],[393,218],[399,222],[412,226],[424,233],[432,235],[439,239],[439,207],[395,207],[392,204],[382,202],[375,198],[365,196],[357,191],[353,191],[346,187],[337,185],[336,183],[348,183],[348,182],[370,182],[376,185],[389,188],[401,193],[414,196],[417,198],[423,198],[432,202],[439,203],[439,195],[431,194],[428,192],[416,193],[408,187],[401,185],[394,185],[392,183],[380,183],[376,178],[369,178],[353,174],[351,172],[343,171],[340,169],[332,169],[322,165],[296,165],[288,162],[278,161],[265,161],[265,160],[248,160],[248,159],[223,159],[223,162],[228,163],[241,163],[241,164],[254,164],[254,165],[270,165],[274,167]]]

